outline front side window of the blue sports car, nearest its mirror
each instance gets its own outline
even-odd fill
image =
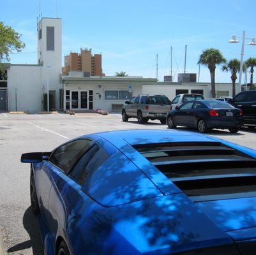
[[[50,156],[50,162],[61,168],[64,173],[68,173],[91,145],[93,142],[89,139],[79,139],[66,143],[54,151]]]

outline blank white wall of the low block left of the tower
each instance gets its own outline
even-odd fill
[[[41,67],[11,66],[8,74],[8,110],[15,111],[17,89],[18,111],[41,111]]]

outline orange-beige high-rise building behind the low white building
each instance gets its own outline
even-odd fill
[[[103,76],[102,73],[102,54],[91,54],[91,50],[83,50],[80,54],[71,52],[64,56],[63,75],[68,75],[69,71],[84,71],[90,76]]]

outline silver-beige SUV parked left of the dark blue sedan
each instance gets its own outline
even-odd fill
[[[133,96],[123,105],[122,118],[123,121],[128,121],[129,118],[135,117],[139,123],[158,119],[165,124],[170,107],[170,100],[163,95]]]

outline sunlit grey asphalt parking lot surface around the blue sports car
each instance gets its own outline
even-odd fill
[[[20,155],[52,150],[76,136],[121,129],[167,129],[167,126],[158,120],[143,125],[138,124],[136,119],[123,122],[120,114],[0,113],[0,234],[5,252],[43,254],[38,222],[30,208],[29,165],[20,163]],[[194,131],[187,128],[177,130]],[[248,128],[241,129],[237,134],[213,130],[208,135],[256,149],[256,131]]]

